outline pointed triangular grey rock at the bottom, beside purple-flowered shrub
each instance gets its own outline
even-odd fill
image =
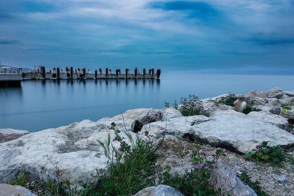
[[[236,172],[229,168],[222,160],[218,160],[211,172],[210,184],[215,190],[221,189],[222,195],[257,196],[248,185],[245,185]]]

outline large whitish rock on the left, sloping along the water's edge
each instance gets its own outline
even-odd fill
[[[125,141],[131,145],[125,135],[124,124],[135,141],[137,134],[132,132],[135,122],[144,124],[156,120],[161,120],[160,110],[128,110],[123,116],[104,118],[98,122],[84,120],[2,143],[0,182],[9,181],[22,171],[27,171],[30,177],[41,180],[62,178],[70,180],[72,184],[78,180],[94,182],[95,176],[107,170],[108,159],[98,140],[107,141],[110,134],[110,140],[113,141],[115,131],[110,129],[110,124],[115,122],[121,131],[119,135],[126,138]],[[120,143],[114,141],[113,147],[120,147]],[[56,175],[56,168],[60,178]]]

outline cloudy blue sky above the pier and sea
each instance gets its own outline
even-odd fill
[[[0,61],[294,74],[294,0],[0,0]]]

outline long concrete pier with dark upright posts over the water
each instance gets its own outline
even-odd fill
[[[9,67],[0,68],[0,86],[20,86],[22,80],[30,79],[159,79],[161,70],[143,69],[142,73],[137,68],[133,72],[125,69],[124,73],[120,69],[113,72],[111,69],[106,68],[103,72],[100,68],[92,73],[90,70],[66,68],[63,71],[60,68],[53,68],[46,72],[44,66],[40,66],[35,72],[24,73],[22,69],[11,69]]]

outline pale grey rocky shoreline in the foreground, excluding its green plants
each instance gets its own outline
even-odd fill
[[[245,97],[254,110],[248,114],[235,111],[228,102],[239,97]],[[134,140],[143,138],[146,131],[155,139],[165,135],[157,151],[160,154],[157,164],[161,170],[165,166],[177,173],[191,169],[190,157],[195,143],[201,142],[201,150],[209,155],[217,148],[227,150],[227,156],[221,157],[211,176],[211,183],[221,188],[222,194],[256,195],[236,175],[247,171],[252,180],[260,181],[267,195],[294,195],[294,91],[273,88],[265,93],[224,94],[202,99],[201,103],[206,116],[183,116],[172,107],[140,108],[97,122],[84,120],[34,133],[0,129],[0,183],[11,181],[24,171],[29,172],[31,182],[61,178],[71,184],[76,181],[94,183],[108,166],[98,141],[105,141],[108,134],[111,138],[116,137],[110,128],[114,122],[121,137],[126,129]],[[263,141],[284,148],[283,168],[245,160],[244,154]],[[113,147],[120,147],[119,143],[114,142]],[[7,186],[11,189],[11,185]],[[172,187],[158,185],[144,189],[136,196],[163,193],[182,195]],[[38,195],[37,192],[34,194]]]

